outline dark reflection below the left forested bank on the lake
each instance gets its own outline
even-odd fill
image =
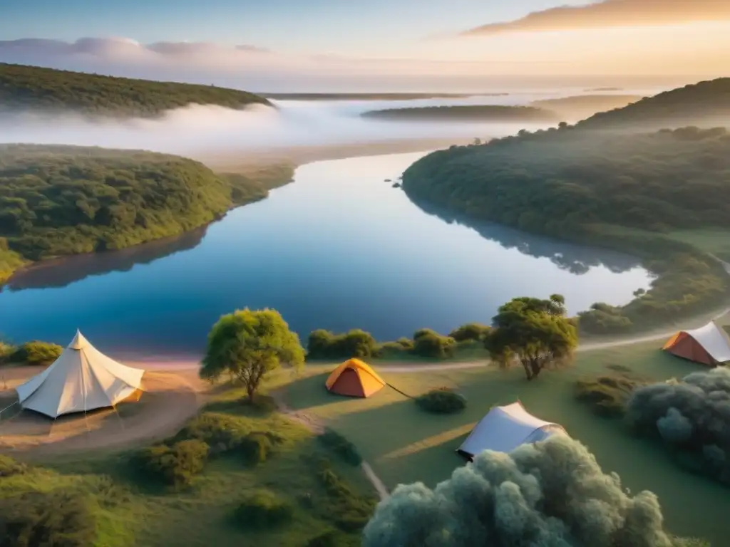
[[[207,226],[203,226],[182,236],[159,239],[120,251],[77,255],[38,263],[12,276],[5,287],[0,287],[0,292],[3,289],[15,292],[24,289],[61,288],[90,276],[102,276],[112,271],[129,271],[135,265],[153,263],[176,252],[197,247],[207,229]]]

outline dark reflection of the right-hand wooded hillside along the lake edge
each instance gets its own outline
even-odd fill
[[[592,267],[599,265],[604,265],[614,274],[621,274],[641,265],[641,260],[637,257],[598,247],[569,244],[546,236],[536,236],[493,222],[475,220],[464,214],[435,206],[433,203],[412,198],[410,195],[408,198],[426,214],[438,217],[448,224],[471,228],[483,238],[496,241],[505,249],[517,249],[523,255],[531,257],[548,258],[558,268],[569,271],[571,274],[587,274]]]

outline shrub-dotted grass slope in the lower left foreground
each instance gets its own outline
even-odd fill
[[[355,541],[359,530],[352,524],[353,514],[364,508],[369,514],[374,507],[372,486],[361,470],[328,449],[310,430],[274,411],[268,399],[252,408],[242,405],[241,397],[238,390],[225,390],[202,416],[223,416],[237,432],[266,432],[275,438],[265,462],[252,462],[241,449],[217,454],[212,450],[204,470],[194,474],[189,486],[174,489],[142,473],[134,465],[136,452],[47,460],[40,455],[34,462],[39,467],[30,472],[0,477],[0,501],[28,490],[83,490],[96,521],[98,538],[93,544],[104,547],[301,547],[318,535],[342,529],[343,522],[350,528],[339,532],[340,537]],[[193,421],[182,435],[208,435],[204,427],[208,423],[207,419],[202,425],[200,419]],[[322,478],[323,465],[327,465],[328,482]],[[257,492],[268,492],[291,513],[269,527],[246,526],[236,511]],[[323,507],[328,511],[321,511]]]

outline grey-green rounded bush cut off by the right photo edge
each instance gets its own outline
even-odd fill
[[[626,417],[661,438],[681,465],[730,486],[730,368],[639,387]]]

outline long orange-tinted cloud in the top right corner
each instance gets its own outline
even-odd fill
[[[561,6],[532,12],[517,20],[469,29],[461,36],[668,26],[724,20],[730,21],[729,0],[603,0],[585,6]]]

